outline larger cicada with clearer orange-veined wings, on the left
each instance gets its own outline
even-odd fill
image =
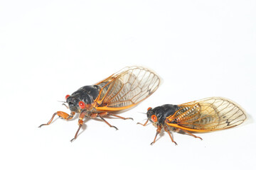
[[[159,84],[159,77],[151,70],[144,67],[125,67],[95,85],[82,86],[73,94],[65,96],[65,103],[68,104],[66,107],[70,109],[70,114],[57,111],[48,123],[43,125],[49,125],[55,115],[65,120],[70,120],[75,113],[78,113],[79,127],[73,140],[78,137],[84,118],[100,118],[107,125],[117,130],[115,126],[110,125],[103,117],[112,115],[124,120],[127,119],[116,115],[115,112],[137,106],[137,104],[153,94]],[[40,125],[39,128],[43,125]]]

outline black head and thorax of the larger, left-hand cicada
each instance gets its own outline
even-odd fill
[[[95,101],[100,94],[100,86],[82,86],[78,91],[75,91],[71,96],[67,98],[67,103],[70,111],[78,112],[79,101],[83,101],[86,104],[91,104]]]

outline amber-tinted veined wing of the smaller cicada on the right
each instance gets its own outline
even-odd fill
[[[178,105],[168,124],[192,132],[208,132],[233,128],[246,119],[245,111],[227,98],[212,97]],[[171,123],[176,121],[176,125]]]

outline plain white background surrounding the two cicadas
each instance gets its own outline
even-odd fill
[[[1,169],[251,169],[256,166],[255,1],[1,1]],[[78,119],[58,101],[125,66],[154,69],[163,84],[119,130]],[[249,121],[197,134],[142,127],[149,106],[223,96]]]

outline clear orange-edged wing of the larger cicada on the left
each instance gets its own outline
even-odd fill
[[[125,67],[100,81],[97,111],[121,111],[137,105],[159,87],[160,78],[144,67]]]

